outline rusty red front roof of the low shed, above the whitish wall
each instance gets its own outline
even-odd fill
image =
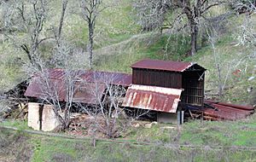
[[[27,87],[26,96],[38,99],[73,101],[88,104],[97,104],[101,100],[106,84],[99,83],[77,83],[73,86],[73,98],[68,99],[67,85],[61,79],[52,78],[32,78]]]

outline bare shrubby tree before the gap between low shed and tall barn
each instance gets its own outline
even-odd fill
[[[92,82],[84,81],[85,87],[92,94],[96,104],[78,103],[77,105],[93,119],[90,124],[93,140],[95,140],[96,132],[101,132],[108,138],[121,136],[125,130],[131,127],[134,120],[149,112],[149,110],[143,110],[137,111],[133,115],[127,115],[127,109],[121,107],[126,89],[122,85],[114,83],[118,77],[118,74],[112,72],[94,72]],[[95,141],[93,144],[95,145]]]

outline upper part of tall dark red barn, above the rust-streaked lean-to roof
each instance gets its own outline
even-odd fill
[[[206,69],[191,62],[142,60],[132,66],[132,84],[183,89],[181,102],[203,106]]]

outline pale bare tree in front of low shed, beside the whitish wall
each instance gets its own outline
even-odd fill
[[[79,90],[79,73],[76,71],[84,65],[84,53],[76,49],[71,43],[60,41],[55,45],[54,54],[50,64],[61,70],[61,77],[55,78],[53,71],[49,70],[42,59],[37,59],[37,65],[27,64],[26,72],[32,76],[32,83],[38,86],[40,101],[52,105],[54,112],[61,122],[61,129],[67,130],[70,124],[70,113],[73,107],[74,93]]]

